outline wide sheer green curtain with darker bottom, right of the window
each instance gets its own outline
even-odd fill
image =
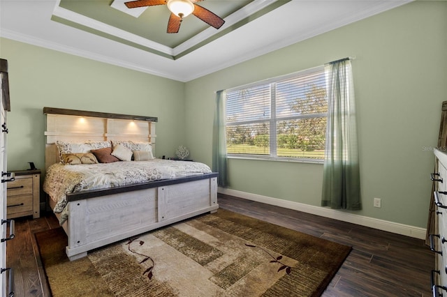
[[[328,82],[328,126],[323,167],[322,206],[358,211],[360,166],[351,61],[325,66]]]

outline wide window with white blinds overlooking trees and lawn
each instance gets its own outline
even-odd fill
[[[228,155],[323,160],[324,67],[226,91]]]

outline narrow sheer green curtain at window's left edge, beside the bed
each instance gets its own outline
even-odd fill
[[[212,139],[212,171],[219,172],[217,184],[226,187],[228,185],[228,171],[225,137],[225,91],[217,92],[216,105]]]

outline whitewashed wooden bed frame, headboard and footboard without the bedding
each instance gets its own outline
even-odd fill
[[[154,117],[50,107],[44,107],[43,113],[45,168],[59,162],[58,140],[131,140],[155,146]],[[62,227],[68,236],[66,254],[74,260],[103,245],[217,211],[217,173],[76,192],[67,194],[67,200],[69,215]],[[48,202],[53,208],[54,201]]]

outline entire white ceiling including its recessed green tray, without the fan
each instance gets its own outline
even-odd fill
[[[409,1],[206,0],[221,29],[190,15],[169,34],[167,6],[0,0],[0,36],[187,82]]]

